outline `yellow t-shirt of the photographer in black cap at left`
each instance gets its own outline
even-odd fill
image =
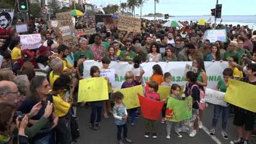
[[[62,100],[60,95],[53,96],[53,108],[57,116],[67,115],[70,109],[70,104]]]

